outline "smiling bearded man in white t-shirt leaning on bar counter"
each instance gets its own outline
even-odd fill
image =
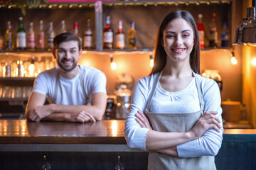
[[[36,77],[26,107],[28,120],[102,120],[107,80],[99,69],[78,65],[81,55],[82,42],[76,35],[61,33],[54,38],[53,57],[58,66]],[[48,105],[44,105],[46,98]]]

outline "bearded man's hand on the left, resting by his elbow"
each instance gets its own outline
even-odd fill
[[[32,121],[39,122],[41,119],[45,118],[46,116],[50,115],[51,112],[51,105],[44,105],[44,106],[36,106],[36,108],[31,111],[29,115],[29,119]]]

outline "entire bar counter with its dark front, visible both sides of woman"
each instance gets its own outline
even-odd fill
[[[124,125],[125,120],[0,120],[1,169],[41,169],[44,154],[54,169],[114,169],[118,155],[125,169],[146,169],[148,153],[127,146]],[[217,169],[256,169],[255,153],[256,129],[225,129],[215,164]]]

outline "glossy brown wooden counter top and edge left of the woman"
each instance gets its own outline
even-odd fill
[[[0,151],[138,152],[124,139],[125,120],[96,123],[0,120]]]

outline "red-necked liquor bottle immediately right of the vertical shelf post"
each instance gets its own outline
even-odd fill
[[[107,16],[106,27],[103,30],[103,48],[112,50],[113,46],[113,30],[110,26],[110,16]]]

